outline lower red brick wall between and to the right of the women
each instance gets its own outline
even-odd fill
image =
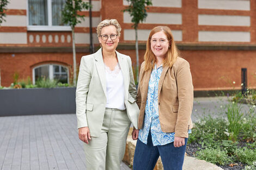
[[[119,52],[130,55],[136,65],[135,51]],[[144,52],[139,51],[140,62]],[[181,56],[190,62],[194,90],[240,89],[241,68],[247,68],[248,86],[256,88],[256,51],[181,51]]]

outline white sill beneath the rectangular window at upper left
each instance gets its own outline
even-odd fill
[[[28,26],[28,31],[71,31],[70,26]]]

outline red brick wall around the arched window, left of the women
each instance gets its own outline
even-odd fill
[[[11,53],[3,53],[0,57],[1,68],[1,85],[10,86],[13,83],[13,75],[15,72],[19,74],[19,79],[27,79],[31,77],[32,71],[35,66],[42,64],[60,64],[69,67],[69,74],[73,72],[72,53],[17,53],[12,56]],[[82,53],[76,54],[77,66],[80,65]]]

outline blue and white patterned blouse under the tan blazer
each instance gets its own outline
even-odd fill
[[[158,86],[163,66],[156,68],[156,65],[151,72],[148,87],[147,104],[145,107],[144,124],[141,130],[139,130],[139,140],[147,144],[149,130],[151,131],[152,142],[154,146],[162,146],[174,142],[175,133],[163,133],[159,121],[159,109],[158,109]],[[191,133],[191,129],[188,130]]]

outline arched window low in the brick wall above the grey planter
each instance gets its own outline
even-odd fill
[[[69,70],[67,67],[57,64],[40,65],[33,68],[33,84],[41,77],[69,83]]]

